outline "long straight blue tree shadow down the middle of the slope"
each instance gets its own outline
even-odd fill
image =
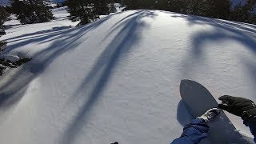
[[[144,30],[147,25],[141,20],[145,17],[154,17],[152,10],[138,10],[134,14],[128,15],[126,18],[122,18],[118,23],[112,26],[110,35],[114,30],[118,30],[118,34],[112,39],[105,50],[98,57],[98,60],[94,63],[94,66],[90,70],[89,74],[82,81],[82,84],[78,87],[78,90],[74,93],[74,97],[70,97],[70,101],[75,101],[76,98],[87,98],[82,107],[78,110],[78,113],[73,118],[70,126],[64,131],[62,141],[59,143],[70,144],[74,142],[74,139],[81,133],[82,127],[86,126],[86,122],[89,119],[89,113],[93,109],[93,106],[98,102],[102,96],[102,90],[106,86],[106,83],[111,78],[111,74],[120,58],[131,50],[140,40],[141,31]],[[106,38],[103,38],[105,41]],[[82,91],[82,93],[80,93]]]

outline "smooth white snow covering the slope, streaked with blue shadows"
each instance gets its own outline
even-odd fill
[[[6,54],[32,60],[0,78],[2,143],[169,143],[192,119],[183,78],[216,99],[256,101],[254,25],[129,10],[74,27],[53,12],[53,22],[5,24]]]

